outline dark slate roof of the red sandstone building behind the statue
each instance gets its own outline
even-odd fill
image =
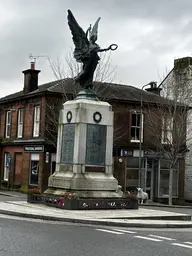
[[[142,91],[141,89],[130,85],[94,82],[94,88],[97,95],[106,100],[140,102],[142,93],[143,102],[170,104],[170,100],[168,99],[145,90]],[[27,96],[29,97],[30,95],[38,95],[41,92],[75,94],[75,91],[77,92],[77,90],[78,88],[74,84],[73,79],[66,78],[42,84],[37,90],[27,94],[23,91],[10,94],[0,98],[0,104]]]

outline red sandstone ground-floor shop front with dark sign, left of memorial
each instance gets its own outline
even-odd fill
[[[18,188],[48,186],[48,178],[55,172],[56,153],[42,144],[4,146],[1,152],[1,187]]]

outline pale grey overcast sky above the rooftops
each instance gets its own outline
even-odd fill
[[[175,58],[192,56],[191,0],[0,0],[0,97],[22,90],[29,55],[65,60],[73,47],[67,9],[86,30],[100,16],[97,43],[111,43],[115,82],[160,81]],[[46,57],[39,84],[55,80]]]

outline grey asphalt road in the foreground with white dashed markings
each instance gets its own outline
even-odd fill
[[[192,229],[128,229],[0,215],[1,256],[191,256]]]

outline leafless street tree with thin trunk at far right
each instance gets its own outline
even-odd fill
[[[173,70],[162,83],[162,95],[167,99],[167,104],[159,104],[156,109],[150,104],[146,106],[146,125],[151,133],[151,144],[162,160],[169,163],[169,204],[172,204],[173,171],[179,159],[184,159],[192,146],[189,106],[192,88],[188,77],[186,70]]]

